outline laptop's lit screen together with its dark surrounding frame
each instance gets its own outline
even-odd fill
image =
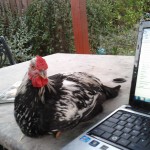
[[[150,21],[139,26],[129,103],[150,110]]]

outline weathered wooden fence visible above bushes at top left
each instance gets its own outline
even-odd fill
[[[12,11],[17,11],[19,14],[22,14],[32,0],[0,0],[0,12],[4,13],[6,8],[9,8]]]

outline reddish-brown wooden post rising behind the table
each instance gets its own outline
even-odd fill
[[[74,42],[78,54],[90,54],[86,0],[71,0]]]

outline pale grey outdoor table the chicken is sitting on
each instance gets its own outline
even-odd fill
[[[133,56],[53,54],[45,57],[48,63],[48,75],[64,72],[88,72],[108,86],[116,86],[114,78],[125,78],[127,82],[120,83],[121,90],[115,99],[106,101],[104,111],[92,120],[80,123],[72,130],[62,134],[59,139],[52,135],[40,138],[23,136],[17,126],[14,116],[14,104],[0,104],[0,144],[9,150],[60,150],[87,128],[104,118],[113,110],[128,103],[130,83],[133,70]],[[0,69],[0,91],[22,80],[28,69],[29,62],[23,62]]]

